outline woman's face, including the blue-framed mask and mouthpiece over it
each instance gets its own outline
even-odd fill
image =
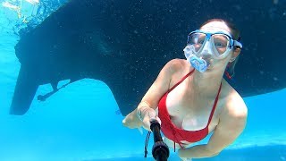
[[[231,29],[223,21],[206,23],[188,36],[187,46],[183,49],[189,63],[199,72],[206,70],[225,70],[231,58],[239,55],[233,50]],[[236,52],[237,55],[235,54]]]

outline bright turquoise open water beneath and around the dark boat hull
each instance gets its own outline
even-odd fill
[[[144,160],[143,135],[122,126],[122,115],[104,82],[80,80],[45,102],[33,100],[29,112],[9,115],[20,63],[13,47],[18,37],[0,7],[0,161]],[[37,46],[37,44],[35,44]],[[40,86],[38,94],[50,91]],[[286,89],[245,97],[245,131],[219,156],[202,160],[285,160]],[[207,140],[207,138],[206,138]],[[201,142],[206,142],[202,140]],[[149,141],[151,158],[152,138]],[[170,160],[179,160],[172,152]],[[194,159],[195,160],[195,159]]]

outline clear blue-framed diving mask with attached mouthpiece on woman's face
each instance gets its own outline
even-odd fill
[[[233,47],[242,45],[226,32],[204,32],[195,30],[189,33],[184,54],[192,66],[199,72],[205,72],[212,59],[223,59],[231,53]]]

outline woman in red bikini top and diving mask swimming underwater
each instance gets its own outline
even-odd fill
[[[122,121],[130,128],[150,120],[161,123],[164,142],[179,148],[182,160],[213,157],[236,140],[244,130],[248,108],[239,93],[223,79],[223,73],[240,55],[240,31],[227,21],[206,21],[189,34],[185,59],[164,65],[139,106]],[[207,144],[190,147],[206,138]]]

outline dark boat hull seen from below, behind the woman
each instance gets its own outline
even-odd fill
[[[283,12],[260,0],[71,0],[15,46],[21,70],[10,114],[25,114],[40,85],[54,89],[36,96],[45,101],[59,81],[85,78],[105,82],[122,115],[129,114],[164,64],[183,58],[189,32],[211,18],[233,21],[241,31],[240,60],[227,80],[242,97],[284,89]]]

